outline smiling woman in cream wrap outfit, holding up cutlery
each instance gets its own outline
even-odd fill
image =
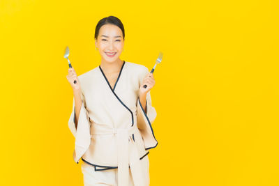
[[[144,65],[119,59],[124,38],[121,20],[103,18],[95,31],[100,65],[78,77],[74,68],[68,70],[74,95],[68,126],[84,185],[149,185],[148,153],[158,144],[151,127],[155,79]]]

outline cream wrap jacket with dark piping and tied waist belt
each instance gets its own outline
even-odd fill
[[[114,87],[100,65],[78,76],[82,107],[75,128],[75,99],[68,127],[75,137],[73,158],[95,166],[95,171],[118,169],[119,185],[128,185],[128,168],[135,171],[135,185],[144,185],[140,160],[158,144],[151,123],[156,109],[146,94],[145,113],[139,89],[149,69],[124,61]]]

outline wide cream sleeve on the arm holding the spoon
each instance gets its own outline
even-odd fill
[[[86,110],[86,102],[82,93],[82,107],[80,109],[79,120],[77,121],[77,128],[75,128],[75,98],[73,98],[73,110],[70,114],[68,121],[68,127],[75,137],[75,150],[73,152],[73,158],[76,163],[80,161],[80,158],[86,150],[89,148],[91,142],[90,128],[91,123],[89,120],[89,114]]]

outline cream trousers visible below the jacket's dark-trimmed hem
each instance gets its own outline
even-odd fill
[[[84,186],[99,186],[99,185],[111,185],[111,186],[121,186],[117,184],[117,169],[107,169],[104,171],[95,171],[95,167],[82,162],[82,173],[84,178]],[[149,180],[149,157],[146,155],[140,160],[142,167],[144,167],[144,175],[148,177]],[[135,186],[133,183],[133,175],[129,169],[129,186]],[[148,186],[147,185],[136,185],[136,186]]]

